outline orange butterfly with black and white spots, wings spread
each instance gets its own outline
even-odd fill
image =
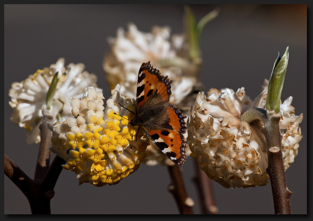
[[[151,66],[150,61],[139,69],[135,112],[128,125],[140,126],[144,134],[172,162],[182,166],[187,159],[187,130],[184,116],[170,100],[172,80]]]

